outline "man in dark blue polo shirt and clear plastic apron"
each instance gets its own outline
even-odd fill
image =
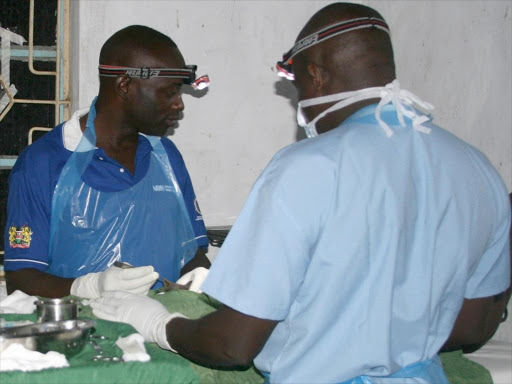
[[[145,26],[103,45],[90,109],[27,147],[9,180],[7,289],[61,297],[147,293],[209,267],[194,189],[163,137],[197,85],[176,44]],[[135,268],[121,269],[123,261]]]

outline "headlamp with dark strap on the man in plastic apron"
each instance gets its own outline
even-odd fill
[[[197,65],[186,65],[185,68],[150,68],[150,67],[122,67],[116,65],[100,65],[98,71],[100,76],[117,77],[130,76],[149,79],[151,77],[166,77],[171,79],[183,79],[185,84],[190,84],[192,88],[201,90],[210,85],[208,75],[196,78]]]

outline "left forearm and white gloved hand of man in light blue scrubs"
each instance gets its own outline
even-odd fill
[[[147,342],[156,342],[199,364],[218,367],[250,365],[278,323],[227,306],[190,320],[169,313],[155,299],[119,291],[105,292],[90,305],[94,315],[132,325]]]

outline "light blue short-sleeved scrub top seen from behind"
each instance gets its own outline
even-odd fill
[[[497,171],[433,124],[401,127],[391,106],[387,138],[375,107],[273,158],[202,286],[280,321],[255,359],[271,382],[339,383],[435,359],[464,298],[509,286]]]

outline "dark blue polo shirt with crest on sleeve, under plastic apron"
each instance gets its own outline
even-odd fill
[[[19,156],[9,177],[9,197],[5,232],[6,271],[48,268],[51,202],[60,172],[72,154],[64,146],[61,124],[48,132]],[[174,143],[162,144],[182,191],[199,247],[208,246],[206,228],[196,201],[190,176]],[[116,192],[137,184],[149,167],[151,144],[139,135],[135,155],[135,174],[131,174],[103,149],[96,149],[84,181],[103,192]]]

